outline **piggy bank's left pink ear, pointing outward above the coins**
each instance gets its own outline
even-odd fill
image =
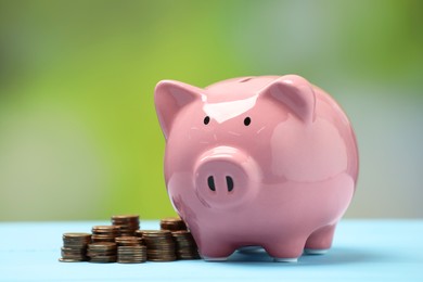
[[[200,88],[175,80],[162,80],[157,84],[154,103],[166,139],[179,111],[194,100],[201,99],[201,92]]]

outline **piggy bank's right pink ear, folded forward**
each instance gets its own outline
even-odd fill
[[[284,104],[304,123],[312,123],[316,95],[311,85],[300,76],[286,75],[260,91],[260,97]]]

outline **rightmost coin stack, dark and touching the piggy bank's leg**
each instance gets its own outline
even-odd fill
[[[198,248],[190,231],[172,231],[175,240],[176,255],[178,259],[198,259]]]

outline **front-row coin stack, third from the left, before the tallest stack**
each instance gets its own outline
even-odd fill
[[[117,262],[140,264],[146,261],[146,246],[141,245],[142,239],[138,236],[118,236]]]

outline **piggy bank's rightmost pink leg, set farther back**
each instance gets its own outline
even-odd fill
[[[335,227],[336,223],[322,227],[312,232],[307,239],[305,253],[309,255],[325,254],[331,248]]]

